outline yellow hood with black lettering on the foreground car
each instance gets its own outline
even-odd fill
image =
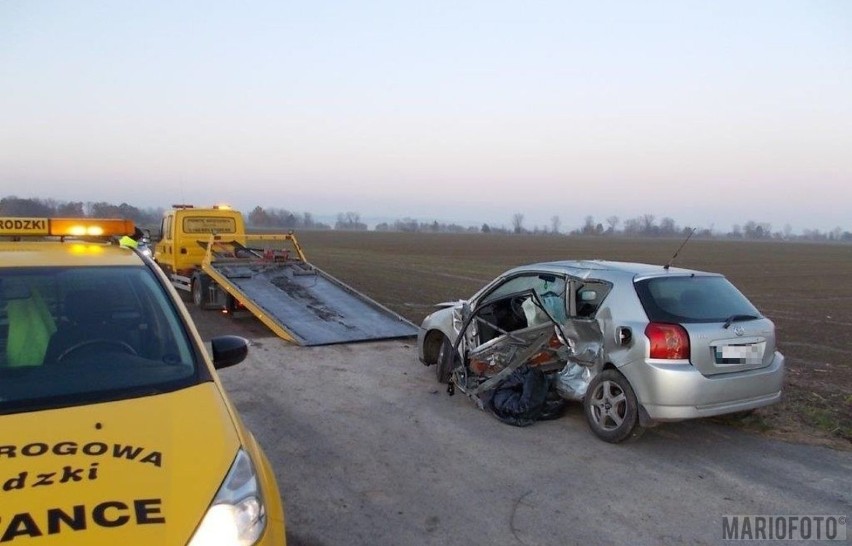
[[[239,446],[213,383],[0,416],[0,544],[185,544]]]

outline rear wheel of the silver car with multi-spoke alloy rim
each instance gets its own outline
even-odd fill
[[[583,410],[589,428],[605,442],[617,444],[645,431],[639,426],[633,387],[617,370],[604,370],[592,379],[583,397]]]

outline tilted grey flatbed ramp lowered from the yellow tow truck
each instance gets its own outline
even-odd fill
[[[264,239],[274,237],[282,236]],[[233,253],[243,258],[208,252],[202,269],[279,336],[300,345],[417,335],[414,324],[304,261],[297,249],[298,257],[283,260],[258,249]]]

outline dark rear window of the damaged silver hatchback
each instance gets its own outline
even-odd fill
[[[636,282],[653,322],[725,322],[760,318],[760,312],[724,277],[657,277]]]

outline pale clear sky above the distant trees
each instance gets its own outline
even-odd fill
[[[12,195],[852,230],[852,2],[0,0]]]

